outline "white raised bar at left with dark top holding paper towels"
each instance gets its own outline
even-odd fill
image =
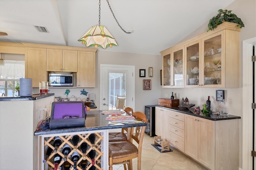
[[[0,97],[1,170],[37,170],[39,149],[34,130],[46,117],[53,101],[54,93]]]

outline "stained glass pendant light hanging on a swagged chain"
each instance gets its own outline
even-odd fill
[[[108,2],[108,6],[110,8],[110,11],[112,12],[109,2]],[[113,12],[112,14],[114,16]],[[114,16],[114,19],[116,19],[115,16]],[[122,27],[119,25],[117,20],[116,22],[118,26],[122,29]],[[130,32],[124,31],[124,32],[127,34],[130,34],[132,31]],[[92,26],[92,28],[90,28],[90,30],[88,30],[78,41],[85,44],[86,47],[94,46],[94,47],[101,47],[103,49],[106,49],[107,47],[112,47],[113,45],[118,46],[115,38],[112,36],[112,34],[110,34],[107,28],[105,26],[100,25],[100,0],[99,0],[99,25]]]

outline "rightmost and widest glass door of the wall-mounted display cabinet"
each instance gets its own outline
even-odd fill
[[[204,87],[224,87],[222,79],[225,77],[225,49],[224,32],[218,32],[202,39],[203,75],[200,80]]]

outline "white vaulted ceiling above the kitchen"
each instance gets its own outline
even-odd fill
[[[100,49],[160,55],[234,0],[101,0],[102,26],[119,46]],[[0,41],[85,47],[78,39],[98,24],[98,0],[0,0]],[[232,10],[232,9],[228,9]],[[34,26],[45,26],[49,33]],[[205,28],[207,30],[207,28]],[[94,48],[94,47],[91,47]]]

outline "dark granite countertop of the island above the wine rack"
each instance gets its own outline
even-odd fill
[[[48,129],[48,130],[36,130],[34,132],[35,136],[47,135],[47,134],[59,134],[59,133],[71,133],[71,132],[84,132],[91,130],[106,130],[124,127],[139,127],[146,126],[146,123],[133,123],[122,125],[108,125],[110,122],[106,121],[108,115],[101,114],[101,111],[88,111],[86,114],[85,127],[76,128],[58,128],[58,129]]]

